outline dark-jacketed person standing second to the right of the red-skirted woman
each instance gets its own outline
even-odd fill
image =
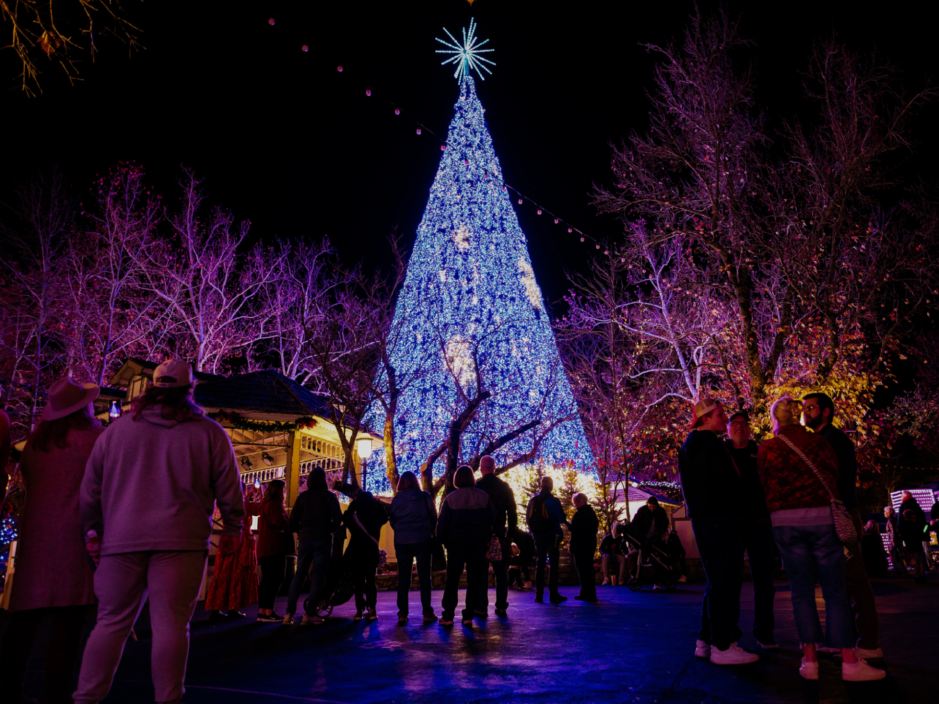
[[[314,467],[306,479],[306,491],[297,497],[287,521],[287,532],[297,533],[300,546],[297,550],[297,572],[287,592],[285,625],[294,622],[300,588],[307,574],[310,574],[310,596],[302,624],[317,625],[323,622],[316,616],[316,605],[332,557],[332,533],[342,525],[342,517],[339,499],[326,485],[326,472],[322,467]]]

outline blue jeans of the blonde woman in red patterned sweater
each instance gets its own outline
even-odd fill
[[[835,527],[774,526],[773,539],[779,546],[782,566],[793,591],[793,616],[799,640],[824,642],[829,648],[854,648],[854,618],[844,582],[844,546]],[[816,574],[824,596],[827,638],[815,605]]]

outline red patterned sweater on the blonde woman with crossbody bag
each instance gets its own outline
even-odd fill
[[[779,434],[785,435],[805,453],[838,497],[838,457],[828,441],[797,424],[780,428]],[[815,473],[779,437],[762,441],[757,452],[757,469],[766,490],[766,505],[770,513],[831,503],[828,492]]]

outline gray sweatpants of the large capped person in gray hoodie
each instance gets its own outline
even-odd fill
[[[95,572],[98,621],[85,645],[75,702],[99,702],[111,689],[124,644],[144,602],[150,599],[153,651],[150,668],[156,699],[185,692],[189,620],[199,598],[208,552],[139,552],[101,558]]]

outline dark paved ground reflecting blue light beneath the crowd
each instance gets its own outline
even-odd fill
[[[414,620],[396,624],[392,592],[379,592],[379,619],[354,623],[351,603],[326,625],[285,627],[240,620],[209,625],[198,613],[192,625],[189,704],[332,704],[424,702],[892,702],[939,701],[939,576],[876,580],[886,653],[885,681],[843,683],[839,666],[824,661],[822,678],[799,678],[797,637],[788,584],[777,583],[777,640],[753,666],[721,668],[693,657],[699,622],[698,585],[674,592],[601,587],[598,605],[573,599],[534,604],[531,592],[510,592],[509,618],[477,620],[472,629],[444,629]],[[745,584],[741,626],[752,621]],[[439,610],[441,591],[434,592]],[[411,613],[419,614],[412,591]],[[494,597],[490,590],[490,601]],[[818,595],[821,602],[821,593]],[[283,602],[278,610],[283,611]],[[462,601],[462,595],[461,595]],[[130,642],[106,704],[150,702],[146,610],[140,640]],[[746,635],[741,645],[755,651]],[[41,689],[41,656],[33,659],[27,692]]]

